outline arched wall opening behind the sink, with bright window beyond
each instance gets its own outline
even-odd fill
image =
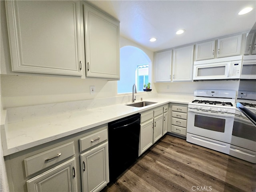
[[[117,82],[117,93],[131,93],[132,85],[137,91],[143,91],[144,84],[151,80],[151,60],[145,52],[134,46],[120,48],[120,80]]]

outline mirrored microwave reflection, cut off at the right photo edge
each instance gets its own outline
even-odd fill
[[[256,79],[256,55],[245,55],[240,79]]]

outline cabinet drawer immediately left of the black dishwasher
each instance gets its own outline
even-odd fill
[[[97,145],[98,143],[108,139],[108,129],[101,130],[94,134],[79,139],[80,152]]]

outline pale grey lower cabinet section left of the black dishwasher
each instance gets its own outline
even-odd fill
[[[4,160],[11,192],[99,192],[109,182],[108,124],[10,154]]]

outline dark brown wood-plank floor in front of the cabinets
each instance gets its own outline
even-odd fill
[[[102,192],[255,192],[256,164],[163,136]]]

